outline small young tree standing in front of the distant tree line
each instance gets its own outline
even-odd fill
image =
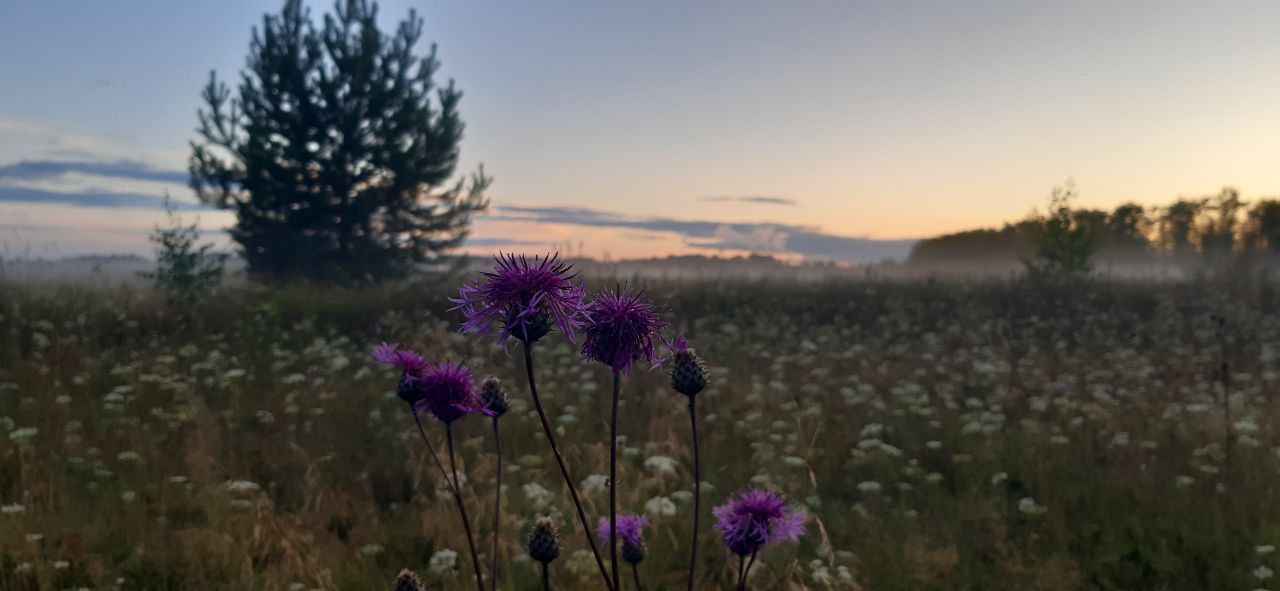
[[[1098,226],[1106,214],[1089,216],[1085,211],[1071,210],[1075,185],[1068,180],[1055,187],[1048,202],[1048,214],[1039,221],[1034,234],[1034,257],[1027,261],[1027,270],[1034,276],[1069,278],[1089,272],[1089,258],[1097,249]]]

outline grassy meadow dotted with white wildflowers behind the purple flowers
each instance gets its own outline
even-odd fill
[[[0,285],[0,588],[385,590],[401,568],[468,588],[444,482],[397,372],[370,358],[381,342],[508,385],[499,588],[538,588],[522,540],[540,516],[566,545],[553,587],[596,588],[518,349],[461,335],[448,311],[465,279],[198,302]],[[712,367],[704,509],[758,486],[810,513],[799,544],[760,555],[751,588],[1272,588],[1268,284],[646,283]],[[539,347],[539,389],[594,519],[611,375],[563,339]],[[686,402],[646,367],[623,388],[620,504],[652,519],[640,576],[684,588]],[[483,526],[490,423],[457,430]],[[439,448],[443,430],[428,434]],[[730,588],[736,563],[709,510],[703,523],[699,588]]]

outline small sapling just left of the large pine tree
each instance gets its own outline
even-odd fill
[[[166,226],[156,226],[150,239],[156,246],[156,270],[143,276],[151,279],[156,289],[175,301],[189,301],[206,296],[223,280],[225,256],[212,252],[212,243],[198,244],[201,233],[197,223],[184,225],[173,210],[166,194],[164,210]]]

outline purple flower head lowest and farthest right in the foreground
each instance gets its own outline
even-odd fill
[[[712,510],[716,528],[730,551],[754,554],[774,541],[797,541],[809,518],[804,509],[790,509],[782,495],[769,490],[746,490],[730,496]]]

